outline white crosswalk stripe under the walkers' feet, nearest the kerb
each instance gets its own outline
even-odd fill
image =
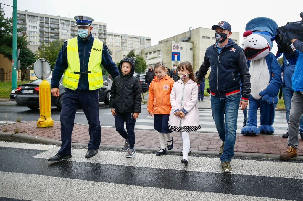
[[[121,146],[122,147],[122,146]],[[52,148],[34,158],[49,158],[56,155],[60,148]],[[92,158],[85,158],[86,149],[72,149],[72,158],[70,161],[89,162],[112,165],[125,165],[145,168],[163,168],[171,170],[186,170],[198,172],[222,173],[221,163],[218,158],[209,157],[189,157],[188,166],[182,164],[180,156],[137,153],[132,160],[125,158],[125,152],[99,151],[98,155]],[[233,159],[231,161],[233,174],[284,177],[302,179],[303,163],[286,163],[277,161],[251,161]],[[279,171],[277,171],[279,170]]]

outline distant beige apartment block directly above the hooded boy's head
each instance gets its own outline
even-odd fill
[[[106,45],[108,46],[108,49],[112,52],[113,61],[120,62],[121,61],[120,56],[124,55],[123,54],[124,52],[130,52],[132,49],[139,50],[139,49],[150,47],[151,38],[144,36],[134,36],[128,34],[117,34],[117,33],[107,32]],[[116,58],[116,53],[118,51],[123,52],[123,53],[119,53],[118,56],[119,59]]]

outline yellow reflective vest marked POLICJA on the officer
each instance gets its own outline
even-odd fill
[[[98,39],[94,39],[92,50],[90,52],[87,72],[80,72],[80,59],[78,53],[78,41],[77,38],[71,38],[67,40],[67,63],[68,68],[64,71],[63,86],[75,90],[78,88],[78,82],[82,73],[88,75],[89,90],[96,90],[103,86],[102,77],[102,49],[103,42]]]

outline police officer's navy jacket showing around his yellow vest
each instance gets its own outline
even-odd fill
[[[85,72],[88,69],[88,61],[90,52],[93,46],[95,39],[92,34],[89,34],[87,39],[83,39],[81,37],[77,37],[78,40],[78,52],[79,52],[79,59],[80,59],[80,72]],[[57,61],[55,63],[55,68],[52,73],[52,81],[51,81],[51,88],[59,88],[59,81],[65,71],[68,68],[67,63],[67,54],[66,54],[66,47],[67,41],[65,41],[62,45],[62,48],[58,54]],[[103,44],[102,50],[102,66],[108,71],[108,73],[115,78],[119,76],[118,68],[115,62],[112,61],[112,57],[108,52],[108,48],[105,44]],[[81,75],[78,82],[78,90],[89,90],[88,86],[88,76]]]

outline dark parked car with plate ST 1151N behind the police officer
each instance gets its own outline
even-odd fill
[[[47,78],[47,81],[50,83],[52,76]],[[51,94],[51,105],[56,106],[59,110],[62,108],[62,99],[65,94],[65,86],[62,85],[62,79],[60,80],[59,85],[59,97],[54,97]],[[22,84],[18,86],[17,95],[15,101],[19,105],[27,106],[29,109],[38,110],[39,108],[39,84],[42,82],[41,79],[36,79],[27,84]],[[109,105],[109,92],[110,87],[103,86],[100,88],[99,92],[99,102],[104,102],[106,105]]]

